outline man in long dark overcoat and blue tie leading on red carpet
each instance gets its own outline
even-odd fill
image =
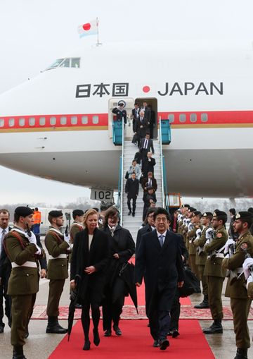
[[[141,286],[145,273],[145,301],[153,346],[169,346],[169,312],[176,288],[183,286],[183,261],[178,235],[168,231],[170,217],[159,207],[154,214],[156,231],[145,234],[136,254],[135,283]]]

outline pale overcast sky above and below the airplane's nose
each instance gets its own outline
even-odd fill
[[[104,43],[208,41],[253,39],[252,13],[252,0],[0,0],[0,94],[37,75],[80,42],[92,44],[96,37],[79,39],[77,26],[96,17]],[[85,188],[18,174],[1,166],[0,178],[0,203],[64,204],[89,196]],[[3,179],[7,180],[4,187]]]

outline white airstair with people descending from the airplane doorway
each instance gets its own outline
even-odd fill
[[[166,125],[166,126],[164,126]],[[163,131],[162,131],[163,127]],[[120,138],[119,138],[120,137]],[[119,142],[117,145],[122,145],[122,156],[120,159],[120,174],[119,174],[119,211],[121,214],[121,225],[129,229],[131,232],[134,241],[136,241],[136,236],[138,229],[141,228],[141,224],[143,223],[143,188],[141,187],[141,183],[139,186],[139,193],[136,200],[136,213],[135,217],[132,215],[128,215],[129,209],[127,207],[127,197],[125,193],[125,185],[126,179],[125,174],[126,171],[131,166],[131,163],[134,159],[134,155],[138,152],[138,147],[131,142],[130,138],[125,138],[124,128],[122,128],[122,136],[119,136]],[[120,143],[121,142],[121,143]],[[160,120],[160,131],[157,140],[153,140],[153,146],[155,150],[155,154],[153,154],[153,158],[155,158],[155,167],[154,167],[154,178],[157,180],[157,190],[155,192],[157,203],[156,207],[167,207],[167,183],[166,183],[166,174],[165,174],[165,164],[164,164],[164,156],[162,154],[162,143],[169,144],[170,142],[170,128],[168,120],[166,123],[163,123]],[[132,201],[131,201],[132,202]]]

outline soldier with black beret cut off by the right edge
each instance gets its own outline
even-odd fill
[[[248,253],[253,257],[253,236],[249,233],[252,223],[253,216],[250,212],[245,211],[235,214],[233,229],[240,236],[236,241],[235,253],[231,256],[227,254],[222,263],[224,269],[229,269],[237,275],[233,279],[231,279],[231,276],[228,277],[225,292],[225,296],[231,298],[235,342],[238,348],[235,359],[247,359],[247,348],[250,347],[247,317],[252,299],[247,295],[242,264],[245,261],[245,254]],[[231,244],[231,241],[231,239],[228,239],[225,252],[228,252],[228,246]]]

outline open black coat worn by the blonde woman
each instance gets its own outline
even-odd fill
[[[101,303],[109,262],[110,250],[107,233],[95,229],[90,250],[88,230],[84,229],[77,233],[72,250],[70,280],[74,279],[76,274],[81,276],[82,280],[78,290],[80,300],[84,300],[89,295],[91,303]],[[84,269],[89,266],[94,266],[96,272],[86,274]]]

